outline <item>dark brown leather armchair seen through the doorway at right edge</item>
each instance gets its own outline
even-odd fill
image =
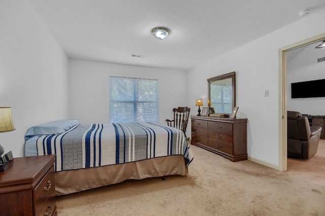
[[[321,127],[309,126],[307,117],[296,111],[287,111],[287,120],[288,156],[313,157],[317,152]]]

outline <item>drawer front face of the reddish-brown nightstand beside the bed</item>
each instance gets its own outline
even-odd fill
[[[52,208],[54,208],[55,206],[54,166],[51,167],[51,169],[44,176],[42,181],[34,188],[33,196],[34,196],[34,212],[36,215],[39,214],[44,215],[44,212],[46,212],[46,210],[44,211],[44,209],[48,209],[49,205],[51,205]],[[51,203],[51,200],[54,200],[54,202]]]

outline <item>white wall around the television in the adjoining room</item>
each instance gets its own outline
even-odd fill
[[[287,110],[325,115],[325,97],[291,98],[291,83],[325,79],[325,61],[317,62],[318,58],[325,57],[325,49],[315,49],[319,44],[307,46],[287,63]]]

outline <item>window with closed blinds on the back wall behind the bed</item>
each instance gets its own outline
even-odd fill
[[[158,122],[158,80],[110,77],[110,122]]]

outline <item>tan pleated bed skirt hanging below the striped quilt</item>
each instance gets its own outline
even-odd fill
[[[55,172],[56,196],[112,185],[126,179],[185,175],[183,155],[172,155],[124,164]]]

